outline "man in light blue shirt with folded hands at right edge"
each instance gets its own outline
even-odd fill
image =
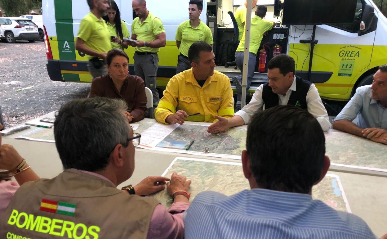
[[[358,117],[356,124],[352,122]],[[334,120],[333,128],[387,144],[387,65],[373,75],[372,85],[361,86]]]

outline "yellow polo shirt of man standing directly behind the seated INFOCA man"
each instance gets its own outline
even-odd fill
[[[200,21],[199,26],[192,28],[190,20],[180,23],[176,31],[176,41],[181,41],[180,53],[188,57],[188,49],[197,41],[205,41],[209,45],[214,43],[211,29]]]

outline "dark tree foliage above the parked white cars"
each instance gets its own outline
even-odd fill
[[[19,17],[31,9],[40,9],[42,0],[0,0],[0,6],[8,17]]]

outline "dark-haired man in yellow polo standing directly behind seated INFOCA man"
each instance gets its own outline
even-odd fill
[[[203,3],[200,0],[191,0],[188,6],[189,20],[180,23],[176,31],[176,46],[179,48],[180,55],[177,60],[176,74],[191,68],[191,62],[188,60],[188,49],[196,41],[205,41],[209,45],[214,43],[212,40],[211,29],[200,21],[200,14],[203,10]]]

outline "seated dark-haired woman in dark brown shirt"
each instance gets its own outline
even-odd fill
[[[125,100],[128,104],[128,121],[137,122],[145,118],[147,109],[145,84],[138,76],[128,74],[129,57],[119,49],[106,55],[108,74],[96,77],[91,83],[90,97],[100,96]]]

